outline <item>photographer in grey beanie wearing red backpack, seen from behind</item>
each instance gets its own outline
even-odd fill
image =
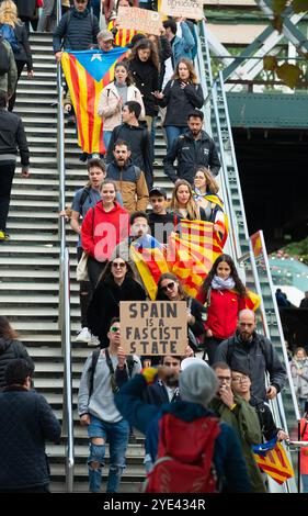
[[[142,400],[157,372],[160,379],[174,375],[169,368],[144,369],[115,396],[122,416],[146,435],[148,450],[156,461],[145,491],[250,492],[238,437],[207,408],[218,388],[213,370],[198,359],[190,359],[179,375],[181,401],[160,407]]]

